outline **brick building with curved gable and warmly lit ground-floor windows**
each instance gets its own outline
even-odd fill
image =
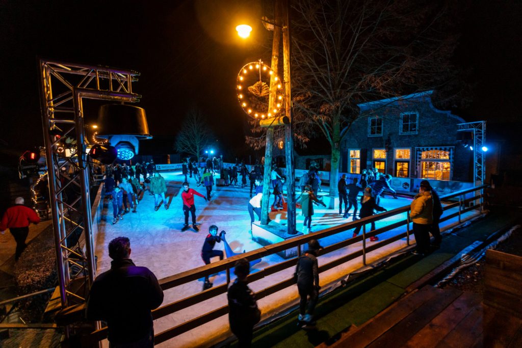
[[[360,117],[341,143],[340,171],[376,167],[397,178],[472,181],[472,151],[457,142],[464,119],[437,110],[433,91],[359,104]]]

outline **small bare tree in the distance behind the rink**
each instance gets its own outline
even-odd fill
[[[195,107],[185,116],[180,133],[176,138],[176,149],[189,155],[194,155],[199,161],[199,155],[210,145],[212,134],[205,123],[205,117]]]

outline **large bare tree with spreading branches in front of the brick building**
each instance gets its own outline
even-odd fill
[[[319,130],[331,148],[330,195],[337,196],[340,144],[358,103],[440,87],[456,37],[451,2],[295,0],[294,121]],[[334,182],[334,183],[332,183]]]

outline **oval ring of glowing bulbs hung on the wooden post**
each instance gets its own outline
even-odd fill
[[[263,62],[245,64],[238,74],[238,101],[244,112],[253,118],[274,117],[283,105],[283,90],[281,80],[275,76],[277,83],[276,106],[268,110],[268,98],[270,95],[270,78],[274,71]]]

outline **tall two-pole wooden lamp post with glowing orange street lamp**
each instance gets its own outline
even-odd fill
[[[274,40],[272,42],[272,62],[271,68],[274,70],[274,74],[271,76],[270,80],[270,98],[269,98],[269,109],[274,109],[274,106],[277,104],[277,89],[276,86],[279,85],[276,80],[277,76],[277,66],[279,61],[279,43],[280,43],[280,35],[282,32],[283,38],[283,92],[284,92],[284,116],[287,117],[288,123],[283,122],[285,124],[284,130],[284,139],[286,146],[286,167],[287,167],[287,190],[288,190],[288,199],[287,199],[287,227],[288,234],[296,234],[295,230],[295,169],[294,169],[294,160],[293,160],[293,130],[292,130],[292,95],[291,95],[291,79],[290,79],[290,20],[289,20],[289,4],[288,0],[275,0],[275,11],[274,11],[274,22],[271,22],[270,25],[273,25],[274,29]],[[266,22],[266,20],[264,20]],[[252,28],[249,27],[248,35],[250,35],[250,31]],[[270,26],[270,28],[272,28]],[[243,36],[245,34],[245,30],[243,26],[236,27],[238,34],[242,38],[248,37],[248,35]],[[263,197],[269,197],[269,178],[271,172],[271,162],[272,162],[272,147],[274,143],[274,128],[273,124],[269,122],[270,119],[265,119],[260,122],[260,126],[268,127],[267,136],[266,136],[266,149],[265,149],[265,177],[263,179]],[[275,119],[274,119],[275,121]],[[262,214],[261,214],[261,223],[268,223],[268,199],[263,199],[262,201]]]

